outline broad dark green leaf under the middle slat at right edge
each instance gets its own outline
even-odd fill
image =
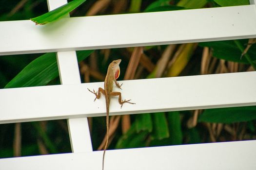
[[[199,122],[235,123],[256,119],[256,106],[206,109],[199,116]]]

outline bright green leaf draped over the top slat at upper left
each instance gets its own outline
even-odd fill
[[[85,0],[73,0],[71,2],[68,2],[65,5],[60,6],[59,8],[56,8],[48,13],[45,13],[39,17],[31,18],[33,22],[39,25],[44,25],[50,22],[53,22],[60,17],[66,16],[68,13],[73,11],[75,8],[77,8],[80,4],[82,4]]]

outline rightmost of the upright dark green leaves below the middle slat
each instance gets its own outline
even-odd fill
[[[168,112],[167,114],[171,145],[182,144],[182,131],[179,112]]]

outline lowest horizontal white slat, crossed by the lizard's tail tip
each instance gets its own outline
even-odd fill
[[[256,170],[256,140],[110,150],[104,170]],[[2,170],[101,170],[102,151],[0,159]]]

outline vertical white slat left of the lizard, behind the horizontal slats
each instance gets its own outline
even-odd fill
[[[47,2],[50,11],[64,5],[67,0],[47,0]],[[57,52],[57,62],[62,85],[81,83],[76,51]],[[72,152],[93,151],[88,119],[67,119],[67,123]]]

